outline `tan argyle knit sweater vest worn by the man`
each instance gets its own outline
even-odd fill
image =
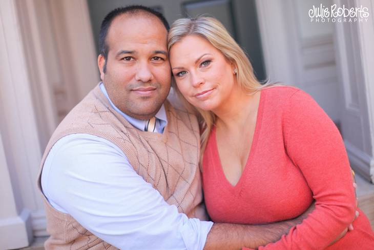
[[[168,125],[164,132],[139,131],[116,112],[108,99],[96,86],[54,131],[38,176],[52,146],[72,133],[88,133],[116,144],[127,156],[138,175],[151,183],[165,201],[176,205],[180,213],[190,218],[206,220],[202,205],[199,160],[199,128],[196,117],[188,112],[176,111],[165,102]],[[47,249],[116,249],[97,238],[69,214],[54,209],[43,196],[47,231]]]

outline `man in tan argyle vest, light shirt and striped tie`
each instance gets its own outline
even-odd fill
[[[102,83],[57,127],[41,163],[47,249],[257,247],[301,222],[204,221],[197,120],[165,101],[168,29],[142,6],[103,21]]]

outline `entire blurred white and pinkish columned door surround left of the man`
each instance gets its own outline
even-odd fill
[[[0,134],[6,162],[0,163],[5,186],[0,198],[14,200],[14,207],[0,206],[1,232],[13,237],[0,233],[3,249],[28,244],[18,234],[22,230],[8,226],[15,216],[25,226],[31,221],[26,238],[47,235],[36,188],[41,153],[57,120],[99,80],[86,0],[0,0],[0,57]],[[3,239],[18,245],[4,245]]]

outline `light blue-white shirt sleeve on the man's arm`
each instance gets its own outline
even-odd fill
[[[213,225],[178,213],[116,145],[89,134],[53,146],[41,186],[53,207],[120,249],[202,249]]]

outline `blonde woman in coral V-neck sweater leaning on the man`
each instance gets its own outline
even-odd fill
[[[169,33],[178,91],[202,119],[201,166],[215,222],[264,224],[315,210],[260,249],[374,249],[355,194],[342,138],[305,92],[261,85],[238,44],[214,18],[182,18]]]

